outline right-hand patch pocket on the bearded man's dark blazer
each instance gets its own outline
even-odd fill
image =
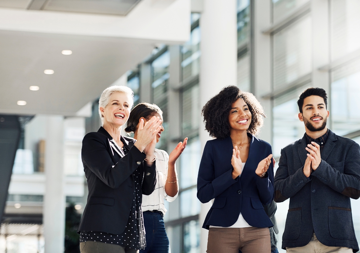
[[[354,239],[355,231],[352,224],[350,208],[329,207],[329,232],[332,238]]]

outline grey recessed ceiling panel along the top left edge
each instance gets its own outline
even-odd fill
[[[126,15],[140,0],[0,0],[0,7]]]

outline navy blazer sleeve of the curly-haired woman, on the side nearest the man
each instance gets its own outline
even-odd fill
[[[271,147],[266,157],[272,154]],[[256,178],[256,187],[259,191],[260,201],[263,205],[270,204],[274,199],[274,163],[271,162],[269,165],[269,169],[265,174],[266,177]]]

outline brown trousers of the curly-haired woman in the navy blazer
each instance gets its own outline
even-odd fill
[[[270,253],[268,227],[211,227],[207,253]]]

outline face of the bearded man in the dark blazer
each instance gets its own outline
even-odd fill
[[[308,130],[311,132],[324,130],[328,117],[329,111],[326,110],[322,97],[313,95],[304,99],[299,119],[304,122]]]

